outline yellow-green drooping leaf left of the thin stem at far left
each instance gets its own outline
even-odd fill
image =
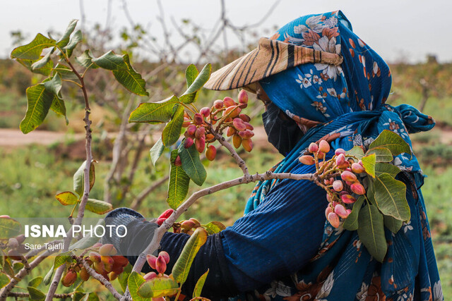
[[[45,89],[43,84],[34,85],[27,88],[27,112],[20,122],[20,130],[27,134],[40,125],[54,100],[54,94]]]

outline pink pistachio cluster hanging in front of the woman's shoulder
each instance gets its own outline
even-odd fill
[[[311,143],[308,151],[312,155],[300,156],[299,161],[302,164],[316,165],[316,183],[326,190],[326,199],[329,202],[325,210],[326,219],[331,226],[338,228],[340,219],[347,219],[352,211],[347,209],[347,204],[355,203],[357,196],[366,193],[359,176],[364,173],[364,166],[361,160],[347,155],[344,149],[336,149],[334,156],[326,160],[325,154],[330,149],[326,140],[321,140],[318,144]]]

